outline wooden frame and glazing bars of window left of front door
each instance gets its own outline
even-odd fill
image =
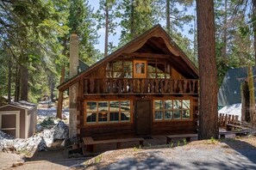
[[[103,121],[103,122],[101,122],[101,121],[99,121],[99,118],[98,118],[98,116],[99,116],[99,113],[101,113],[100,111],[99,111],[99,106],[98,106],[98,103],[99,102],[104,102],[104,101],[106,101],[106,102],[108,102],[108,111],[106,111],[107,112],[107,121]],[[111,112],[111,110],[110,110],[110,101],[118,101],[119,102],[119,108],[118,108],[118,121],[110,121],[110,112]],[[122,120],[122,112],[124,112],[124,111],[122,111],[122,105],[121,105],[121,102],[122,101],[129,101],[129,103],[130,103],[130,108],[129,108],[129,113],[130,113],[130,118],[129,118],[129,120]],[[86,110],[86,106],[87,106],[87,102],[97,102],[97,109],[96,109],[96,112],[87,112],[87,110]],[[123,99],[123,100],[84,100],[84,115],[83,115],[83,118],[84,118],[84,125],[100,125],[100,124],[131,124],[131,123],[133,123],[133,101],[132,100],[125,100],[125,99]],[[112,111],[112,112],[114,112],[114,111]],[[96,113],[96,122],[90,122],[90,123],[88,123],[87,122],[87,113]]]

